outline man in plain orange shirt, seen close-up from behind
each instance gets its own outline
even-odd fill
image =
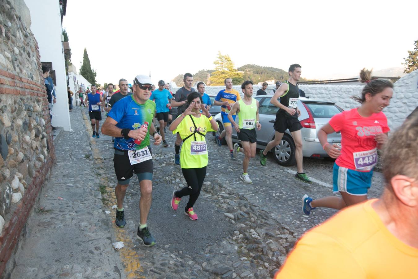
[[[384,150],[380,199],[353,205],[298,241],[275,279],[418,278],[418,115]]]

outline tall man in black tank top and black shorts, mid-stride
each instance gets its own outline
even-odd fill
[[[301,78],[301,65],[292,64],[289,67],[288,73],[289,79],[280,85],[270,100],[273,105],[279,108],[274,123],[275,136],[274,139],[267,144],[265,149],[260,151],[260,164],[265,166],[268,151],[280,144],[285,131],[288,129],[289,132],[291,132],[296,146],[295,154],[291,154],[291,157],[296,157],[296,164],[298,166],[298,172],[296,173],[295,178],[306,183],[312,183],[308,176],[303,172],[302,164],[302,125],[298,120],[298,116],[301,115],[301,112],[298,109],[299,88],[296,84]],[[278,101],[279,97],[280,102]]]

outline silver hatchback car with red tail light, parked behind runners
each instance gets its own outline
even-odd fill
[[[272,95],[262,95],[254,97],[260,102],[259,114],[261,130],[257,131],[257,148],[264,149],[267,143],[274,138],[275,131],[273,125],[276,118],[278,108],[270,103]],[[334,102],[324,100],[313,100],[305,97],[299,98],[298,109],[301,111],[299,121],[302,124],[302,141],[303,141],[303,156],[304,157],[329,157],[319,143],[318,131],[329,122],[332,116],[342,112],[342,108],[335,105]],[[219,125],[218,135],[224,130],[222,125],[221,114],[215,116],[215,120]],[[238,115],[235,122],[238,123]],[[232,141],[238,142],[237,131],[232,129]],[[335,132],[328,135],[329,143],[341,144],[341,133]],[[223,138],[222,144],[226,144]],[[295,158],[295,143],[291,133],[286,130],[280,144],[274,150],[274,158],[283,166],[291,166],[296,163]]]

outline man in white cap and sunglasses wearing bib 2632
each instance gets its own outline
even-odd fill
[[[113,159],[117,177],[115,225],[119,228],[126,225],[123,199],[130,178],[135,173],[141,188],[140,223],[137,237],[145,246],[155,245],[155,238],[147,227],[147,217],[152,201],[154,169],[150,134],[154,138],[154,145],[160,144],[162,140],[153,125],[155,103],[149,100],[151,84],[148,76],[143,74],[136,76],[133,81],[133,95],[115,102],[102,126],[103,134],[115,137]]]

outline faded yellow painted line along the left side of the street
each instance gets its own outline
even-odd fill
[[[93,133],[92,125],[90,125],[90,121],[87,119],[86,114],[82,110],[82,116],[84,119],[84,123],[86,125],[88,133],[91,135]],[[106,187],[107,194],[105,195],[105,198],[107,201],[103,201],[103,205],[105,207],[112,208],[112,205],[117,204],[116,195],[115,195],[115,189],[113,187],[109,186],[109,179],[105,176],[104,173],[104,166],[102,161],[102,156],[100,154],[99,149],[97,148],[96,141],[93,138],[90,138],[90,146],[92,148],[92,154],[94,159],[94,166],[97,166],[98,172],[100,174],[100,183]],[[116,242],[117,241],[123,241],[125,244],[125,247],[119,249],[119,256],[120,261],[122,262],[123,268],[125,270],[125,274],[127,278],[145,278],[145,276],[142,276],[141,273],[143,272],[143,268],[141,267],[140,261],[139,261],[139,255],[137,252],[133,249],[133,240],[128,235],[126,235],[126,230],[119,229],[116,227],[114,222],[112,220],[115,220],[116,212],[115,210],[109,210],[110,211],[110,217],[107,219],[110,220],[112,228],[115,231],[116,235]]]

